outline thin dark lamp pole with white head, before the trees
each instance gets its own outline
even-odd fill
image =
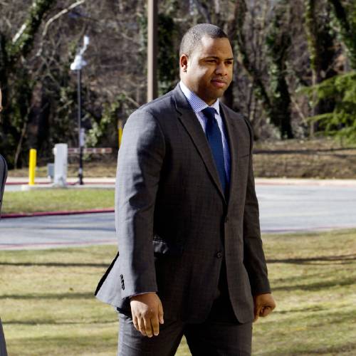
[[[83,185],[83,147],[85,141],[85,132],[82,127],[82,100],[81,100],[81,90],[82,90],[82,69],[87,65],[87,62],[83,59],[83,53],[88,48],[89,36],[84,36],[83,47],[79,48],[77,55],[74,58],[72,64],[70,64],[70,70],[75,70],[77,72],[78,78],[78,148],[79,148],[79,169],[78,178],[79,184]]]

